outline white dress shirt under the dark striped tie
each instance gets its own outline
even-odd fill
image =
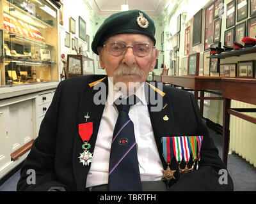
[[[122,94],[108,78],[108,98],[100,121],[99,132],[93,151],[93,159],[88,172],[86,187],[108,184],[109,155],[111,141],[118,110],[113,105]],[[135,92],[140,102],[132,105],[129,117],[134,124],[134,135],[137,143],[137,154],[141,181],[161,180],[163,165],[154,138],[147,101],[145,99],[144,84]]]

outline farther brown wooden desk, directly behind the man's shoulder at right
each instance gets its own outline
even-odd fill
[[[204,99],[208,100],[222,100],[223,97],[220,92],[210,90],[222,90],[221,78],[223,77],[199,77],[199,76],[162,76],[162,82],[172,84],[174,87],[182,87],[187,91],[194,91],[195,98],[200,100],[200,113],[203,117],[204,113]],[[198,96],[200,91],[200,96]],[[210,92],[218,95],[218,97],[204,97],[204,92]]]

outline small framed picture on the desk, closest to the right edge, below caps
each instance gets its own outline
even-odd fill
[[[237,62],[237,77],[255,77],[255,61]]]

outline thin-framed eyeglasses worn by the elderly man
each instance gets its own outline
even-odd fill
[[[155,48],[155,46],[152,46],[149,43],[137,43],[134,45],[126,45],[125,43],[119,42],[108,42],[104,44],[103,47],[106,47],[108,54],[113,56],[124,55],[127,48],[131,47],[133,50],[133,54],[138,57],[147,56],[152,50],[152,48]]]

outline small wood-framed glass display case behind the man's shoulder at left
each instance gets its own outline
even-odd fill
[[[92,75],[95,73],[93,59],[84,55],[68,55],[68,77]]]

